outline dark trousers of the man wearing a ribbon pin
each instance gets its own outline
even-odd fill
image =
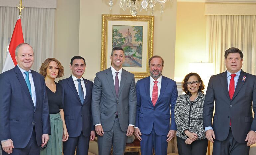
[[[218,141],[214,139],[212,155],[249,155],[250,147],[246,143],[237,142],[232,135],[232,131],[229,130],[226,140]]]

